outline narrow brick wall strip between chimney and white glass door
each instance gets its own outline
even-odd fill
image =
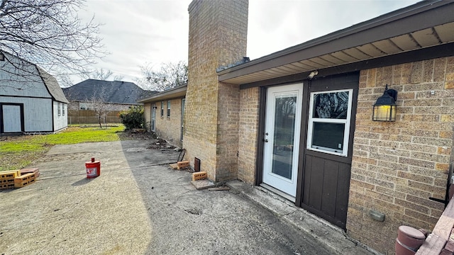
[[[243,89],[240,93],[240,128],[238,146],[238,179],[255,182],[259,122],[259,88]]]

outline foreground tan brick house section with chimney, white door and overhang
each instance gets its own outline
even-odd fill
[[[453,13],[454,1],[421,1],[235,66],[248,1],[192,1],[185,157],[212,181],[263,186],[394,254],[399,225],[432,229],[448,199]],[[386,86],[395,121],[373,121]]]

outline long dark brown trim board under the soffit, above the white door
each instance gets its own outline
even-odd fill
[[[435,47],[428,47],[418,51],[404,52],[396,55],[389,55],[386,57],[379,57],[372,60],[365,60],[350,64],[344,64],[338,67],[329,67],[326,69],[319,69],[319,77],[328,77],[334,74],[342,74],[346,72],[357,72],[364,69],[371,69],[377,67],[387,67],[394,64],[404,64],[409,62],[416,62],[422,60],[431,60],[438,57],[454,56],[454,42],[446,43]],[[277,77],[274,79],[267,79],[263,81],[255,81],[249,84],[241,84],[240,89],[249,89],[255,86],[270,86],[278,84],[287,84],[307,79],[310,72],[303,72],[299,74],[292,74],[285,77]]]

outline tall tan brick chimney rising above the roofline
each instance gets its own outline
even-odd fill
[[[239,89],[219,84],[216,68],[245,57],[247,29],[248,0],[189,5],[184,148],[191,165],[194,157],[201,159],[201,170],[213,181],[236,179]]]

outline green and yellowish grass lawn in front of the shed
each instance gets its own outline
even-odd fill
[[[69,127],[57,134],[0,137],[0,171],[24,168],[42,158],[53,145],[121,140],[123,130],[123,125],[103,129]]]

